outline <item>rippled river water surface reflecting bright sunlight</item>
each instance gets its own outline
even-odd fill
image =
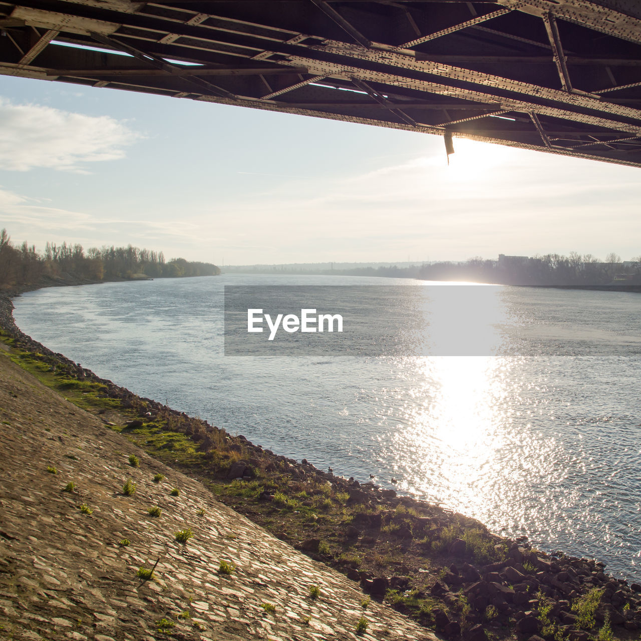
[[[394,304],[411,302],[430,340],[462,355],[416,356],[401,341],[358,357],[224,356],[223,285],[274,284],[424,285],[239,275],[106,283],[25,294],[15,318],[99,376],[276,453],[388,487],[395,478],[398,491],[497,533],[641,579],[641,295],[465,287],[453,299],[440,293],[453,287],[429,287],[418,321],[414,294]],[[363,331],[372,342],[401,331],[388,323]]]

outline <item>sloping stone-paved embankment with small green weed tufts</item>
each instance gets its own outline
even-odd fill
[[[0,638],[436,639],[379,603],[363,609],[366,597],[349,579],[147,456],[5,353],[0,421]],[[130,496],[122,493],[128,479]],[[74,492],[63,491],[69,482]],[[160,517],[149,515],[154,506]],[[174,534],[187,528],[193,538],[179,544]],[[235,570],[222,574],[221,561]],[[153,580],[138,578],[156,562]],[[357,635],[363,616],[367,629]]]

